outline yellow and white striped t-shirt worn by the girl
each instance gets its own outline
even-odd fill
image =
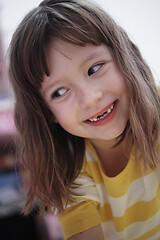
[[[160,239],[160,167],[144,171],[131,153],[125,169],[108,177],[86,141],[83,168],[75,182],[80,185],[72,190],[80,196],[59,217],[65,239],[98,224],[108,240]]]

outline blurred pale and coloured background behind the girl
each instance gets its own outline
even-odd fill
[[[91,0],[103,6],[139,46],[156,83],[160,81],[160,1]],[[22,216],[25,189],[15,171],[12,137],[14,98],[7,75],[7,51],[24,15],[40,0],[0,0],[0,239],[63,239],[55,216]]]

